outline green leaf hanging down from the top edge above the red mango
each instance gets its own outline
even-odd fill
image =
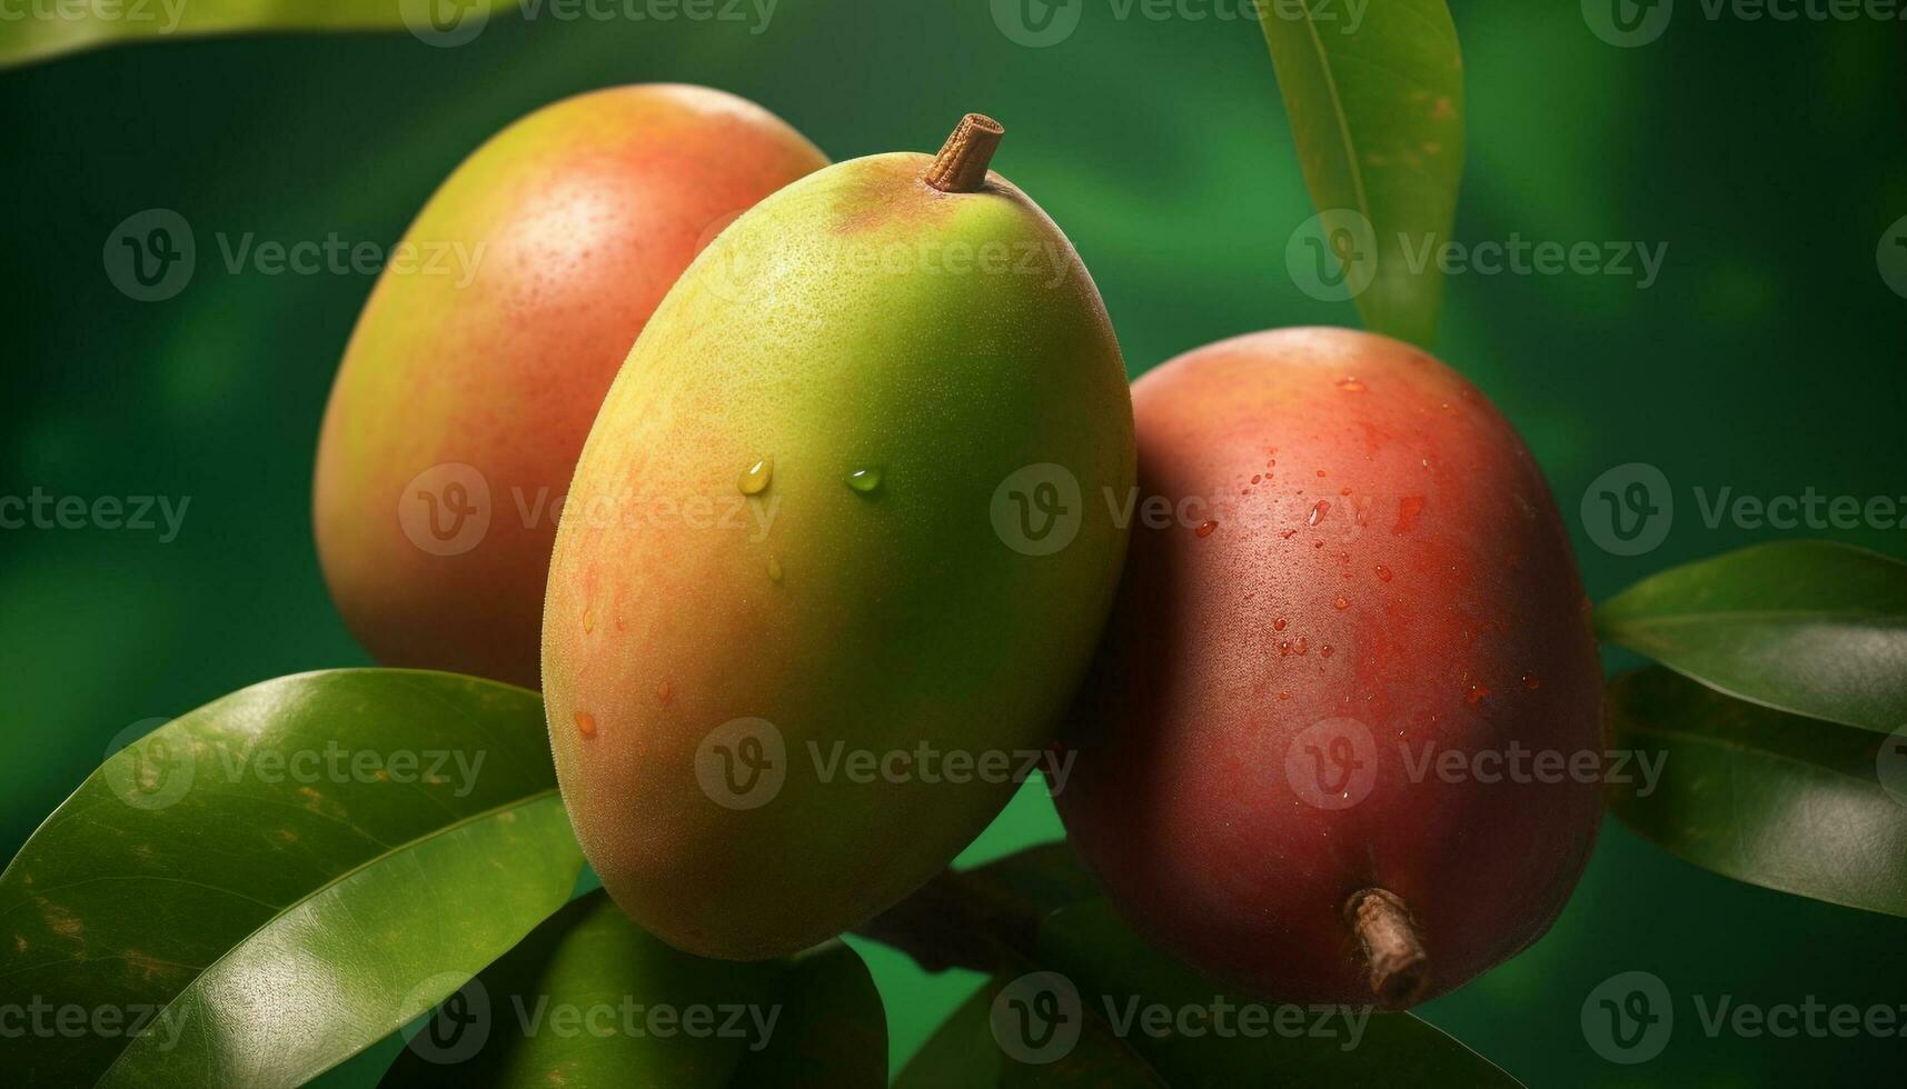
[[[1348,277],[1343,290],[1371,330],[1428,345],[1444,298],[1436,250],[1463,179],[1463,53],[1449,8],[1388,0],[1354,17],[1339,0],[1259,0],[1259,25],[1323,216],[1304,240],[1337,254],[1333,277]],[[1323,250],[1287,259],[1301,257],[1325,261]]]

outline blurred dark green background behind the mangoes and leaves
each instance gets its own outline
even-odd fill
[[[1695,486],[1907,498],[1907,299],[1875,257],[1907,216],[1901,23],[1684,8],[1634,50],[1568,2],[1455,11],[1470,134],[1457,238],[1669,244],[1648,290],[1575,275],[1461,275],[1447,290],[1438,355],[1522,427],[1598,601],[1772,540],[1703,524]],[[702,82],[835,158],[933,151],[963,111],[988,111],[1009,128],[995,166],[1079,248],[1135,376],[1232,334],[1356,324],[1285,273],[1312,208],[1257,25],[1226,0],[1180,6],[1203,19],[1148,10],[1091,0],[1053,48],[1009,40],[988,0],[782,0],[765,27],[507,13],[460,48],[402,31],[175,40],[0,72],[0,494],[191,498],[170,544],[0,530],[8,854],[133,723],[368,662],[326,601],[307,505],[324,397],[372,280],[229,273],[215,235],[395,242],[460,158],[543,103]],[[101,257],[147,208],[198,238],[191,284],[156,303],[120,294]],[[1577,515],[1625,462],[1661,467],[1678,503],[1640,557],[1598,549]],[[1901,528],[1827,536],[1907,555]],[[1045,797],[1022,793],[967,860],[1056,833]],[[896,1064],[978,982],[860,948]],[[1669,1049],[1636,1068],[1600,1058],[1579,1022],[1589,992],[1629,969],[1676,996]],[[1421,1013],[1533,1085],[1901,1079],[1903,1039],[1711,1038],[1697,994],[1899,1007],[1907,919],[1737,885],[1608,822],[1554,931]],[[372,1081],[389,1055],[328,1081]]]

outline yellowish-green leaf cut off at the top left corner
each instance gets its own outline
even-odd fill
[[[238,31],[402,31],[431,44],[482,32],[513,0],[36,0],[4,23],[0,67],[114,42],[164,42]]]

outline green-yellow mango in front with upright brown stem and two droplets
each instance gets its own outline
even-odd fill
[[[664,299],[584,446],[549,736],[603,883],[683,950],[803,948],[946,866],[1112,605],[1125,368],[1066,236],[986,172],[997,139],[971,114],[940,158],[761,202]]]

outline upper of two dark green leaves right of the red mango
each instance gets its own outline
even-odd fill
[[[1907,725],[1907,565],[1781,542],[1665,570],[1596,610],[1611,643],[1718,692],[1890,732]]]

